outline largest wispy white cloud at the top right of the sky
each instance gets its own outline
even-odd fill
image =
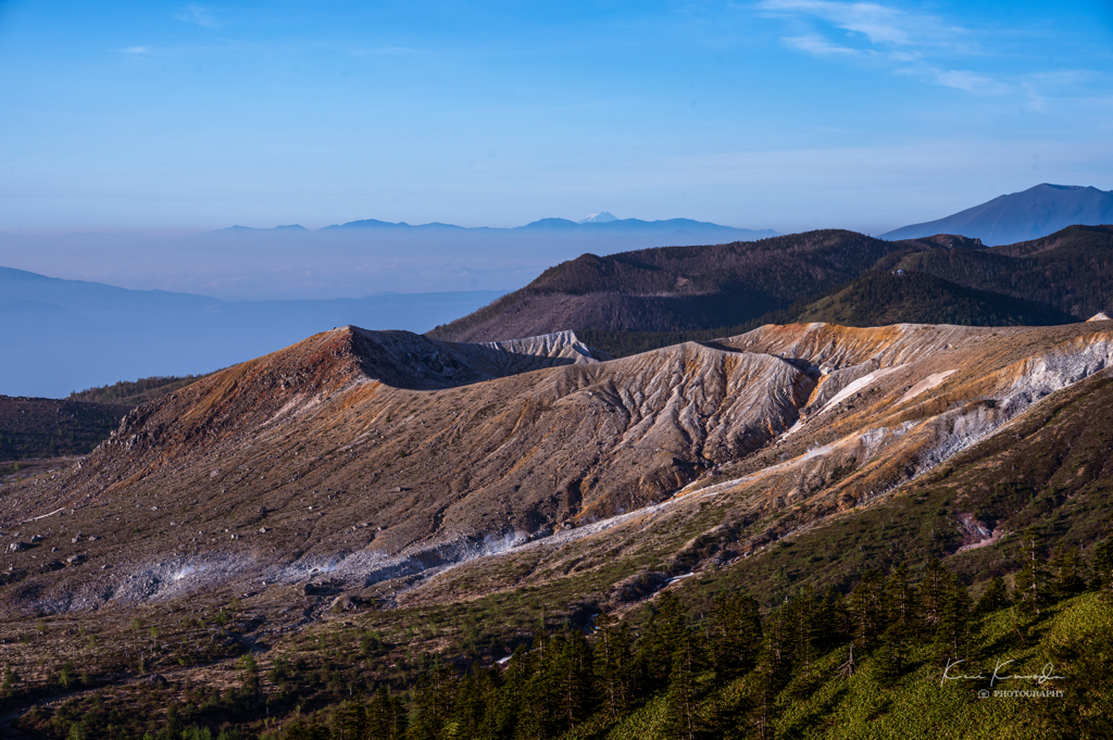
[[[918,77],[943,87],[981,95],[1006,92],[1007,85],[984,73],[948,68],[937,57],[969,52],[967,29],[932,16],[909,13],[874,2],[831,0],[764,0],[767,16],[797,23],[826,24],[846,31],[843,42],[819,30],[782,37],[790,48],[828,59],[857,59],[880,63],[898,75]],[[855,42],[859,46],[854,46]]]

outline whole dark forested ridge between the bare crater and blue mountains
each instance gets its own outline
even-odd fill
[[[1113,307],[1111,275],[1110,226],[994,248],[947,235],[881,241],[811,231],[584,255],[430,335],[485,341],[572,329],[621,357],[794,322],[1041,326]]]

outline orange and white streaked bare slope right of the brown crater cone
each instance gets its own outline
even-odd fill
[[[1061,483],[1058,491],[1075,483],[1089,491],[1100,477],[1101,464],[1070,464],[1078,454],[1084,461],[1092,457],[1087,451],[1093,444],[1082,445],[1085,448],[1077,454],[1066,448],[1085,428],[1086,404],[1102,407],[1113,387],[1110,322],[1096,330],[1085,325],[1051,329],[795,325],[765,327],[727,345],[789,358],[819,374],[798,425],[765,450],[720,466],[661,504],[471,561],[411,589],[401,601],[440,602],[451,594],[480,594],[574,575],[581,589],[590,590],[581,599],[613,608],[646,596],[667,576],[708,564],[729,565],[722,578],[749,582],[751,588],[761,574],[769,576],[789,565],[794,579],[831,585],[840,576],[860,572],[861,526],[877,530],[871,529],[869,537],[870,562],[889,566],[900,562],[902,553],[923,559],[954,553],[966,544],[995,543],[1012,530],[994,527],[1014,514],[1031,521],[1031,513],[1021,513],[1027,491],[1034,496],[1060,466],[1058,477],[1075,473],[1086,477]],[[1063,408],[1072,408],[1073,416],[1060,418]],[[1095,441],[1104,448],[1107,433],[1096,423]],[[1057,430],[1056,424],[1066,428]],[[1013,446],[1030,452],[1013,452]],[[1048,455],[1051,460],[1044,460]],[[1012,463],[1014,472],[1007,472],[1001,458]],[[1015,472],[1022,466],[1046,471]],[[954,471],[961,474],[948,477]],[[1026,475],[1031,480],[1023,483]],[[1009,495],[1023,494],[1020,503],[995,493],[1002,487],[996,483],[1014,478],[1022,483],[1008,483],[1008,490],[1020,494]],[[922,480],[939,494],[926,497]],[[977,499],[955,501],[956,492],[963,499],[967,491],[976,492]],[[906,502],[908,493],[919,495]],[[1078,499],[1085,501],[1082,506],[1095,505],[1094,500]],[[1050,511],[1045,503],[1040,506]],[[880,507],[878,515],[864,514],[874,507]],[[1058,529],[1067,525],[1064,520]],[[1085,526],[1090,525],[1081,529]],[[996,532],[992,540],[991,532]],[[836,533],[840,544],[823,544]],[[779,559],[749,560],[786,539],[807,539],[811,544],[806,550],[823,551],[833,562],[850,565],[824,576],[808,572],[807,561],[801,564],[791,551]],[[924,540],[929,542],[926,554]],[[626,570],[615,568],[621,563],[628,564]],[[615,583],[624,575],[630,578]],[[390,586],[383,584],[384,594]],[[761,583],[758,590],[768,593],[770,588],[788,583]]]

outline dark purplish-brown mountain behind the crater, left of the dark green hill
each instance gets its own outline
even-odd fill
[[[908,248],[828,229],[608,257],[588,254],[430,335],[489,342],[562,328],[690,332],[733,326],[844,285],[885,255]]]

